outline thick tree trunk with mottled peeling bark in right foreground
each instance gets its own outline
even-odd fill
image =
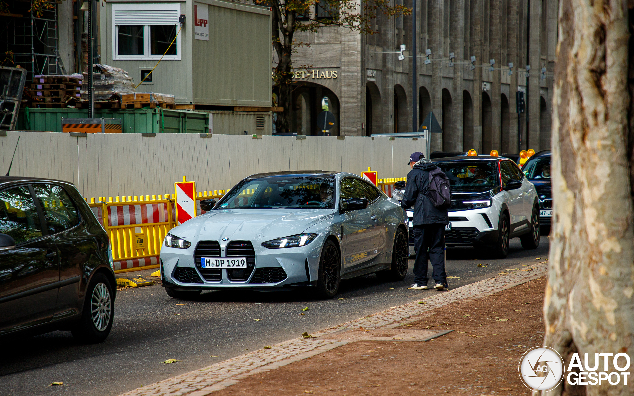
[[[624,352],[634,365],[632,19],[627,1],[560,0],[544,317],[545,345],[566,369],[574,352],[582,363],[589,354],[591,367],[595,353]],[[599,362],[597,371],[618,372],[612,359],[607,370]],[[633,383],[564,379],[549,394],[632,395]]]

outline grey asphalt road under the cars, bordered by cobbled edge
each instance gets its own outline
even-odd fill
[[[547,255],[547,237],[541,238],[538,250],[528,251],[515,238],[504,260],[476,255],[472,248],[449,248],[448,276],[460,277],[450,279],[450,288]],[[479,263],[487,267],[477,267]],[[332,300],[314,300],[306,291],[209,291],[195,301],[181,301],[168,297],[160,285],[122,290],[117,293],[112,333],[101,344],[77,344],[69,331],[5,341],[0,395],[119,395],[304,331],[319,331],[441,293],[408,290],[412,267],[410,260],[407,278],[398,283],[384,283],[374,275],[346,281]],[[431,267],[429,271],[430,276]],[[304,307],[309,309],[300,315]],[[169,358],[182,362],[162,363]],[[49,386],[53,381],[64,385]]]

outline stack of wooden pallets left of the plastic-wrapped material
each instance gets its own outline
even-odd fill
[[[81,79],[76,77],[36,76],[24,91],[27,104],[35,108],[81,108]]]

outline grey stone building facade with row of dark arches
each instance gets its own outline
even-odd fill
[[[434,112],[443,127],[432,151],[517,153],[518,138],[522,150],[550,148],[557,10],[557,0],[417,0],[415,111],[418,125]],[[295,34],[311,43],[294,56],[295,132],[320,134],[314,120],[326,108],[337,118],[331,134],[411,132],[411,23],[378,15],[373,35],[342,27]],[[526,103],[519,117],[518,91]]]

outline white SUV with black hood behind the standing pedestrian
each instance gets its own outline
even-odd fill
[[[451,183],[450,224],[446,227],[446,246],[493,248],[496,257],[508,253],[508,240],[519,237],[522,247],[540,245],[539,201],[533,183],[515,162],[494,156],[455,156],[438,158],[434,163]],[[392,197],[402,194],[394,190]],[[410,217],[410,245],[413,212]]]

